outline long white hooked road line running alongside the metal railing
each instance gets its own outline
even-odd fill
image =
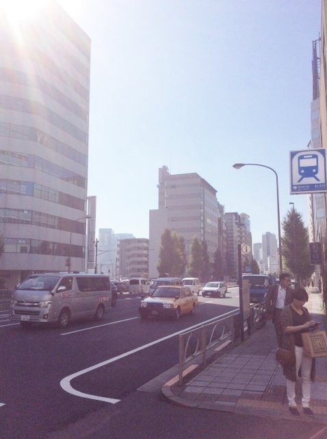
[[[228,316],[229,314],[233,314],[233,313],[235,313],[235,310],[229,311],[228,313],[225,313],[224,316]],[[168,340],[168,339],[170,339],[172,337],[176,337],[176,335],[179,335],[179,334],[181,334],[183,332],[187,332],[190,329],[194,329],[196,327],[200,327],[203,324],[209,323],[212,320],[216,320],[216,319],[217,319],[217,317],[210,318],[209,320],[205,320],[204,322],[200,322],[200,323],[194,324],[192,327],[185,328],[182,331],[178,331],[178,332],[172,333],[170,335],[166,335],[166,337],[159,338],[158,340],[154,340],[153,342],[144,344],[143,346],[140,346],[138,348],[132,349],[131,351],[125,352],[125,353],[120,354],[120,355],[117,355],[117,357],[113,357],[113,358],[107,359],[105,361],[102,361],[101,363],[94,364],[94,366],[90,366],[90,367],[88,367],[86,369],[79,370],[79,372],[75,372],[75,373],[73,373],[71,375],[68,375],[68,377],[63,378],[62,381],[60,381],[60,385],[61,385],[62,389],[65,390],[66,392],[68,392],[70,394],[73,394],[75,396],[80,396],[81,398],[93,399],[93,400],[96,400],[96,401],[103,401],[105,403],[111,403],[111,404],[119,403],[120,399],[105,398],[104,396],[96,396],[96,395],[90,395],[88,393],[79,392],[79,390],[75,390],[73,388],[73,386],[70,384],[70,381],[72,381],[72,379],[74,379],[74,378],[77,378],[77,377],[80,377],[81,375],[84,375],[85,373],[92,372],[92,370],[101,368],[102,366],[107,366],[107,364],[114,363],[114,361],[118,361],[119,359],[128,357],[129,355],[135,354],[135,353],[137,353],[139,351],[143,351],[144,349],[149,348],[151,346],[154,346],[155,344],[164,342],[165,340]]]

